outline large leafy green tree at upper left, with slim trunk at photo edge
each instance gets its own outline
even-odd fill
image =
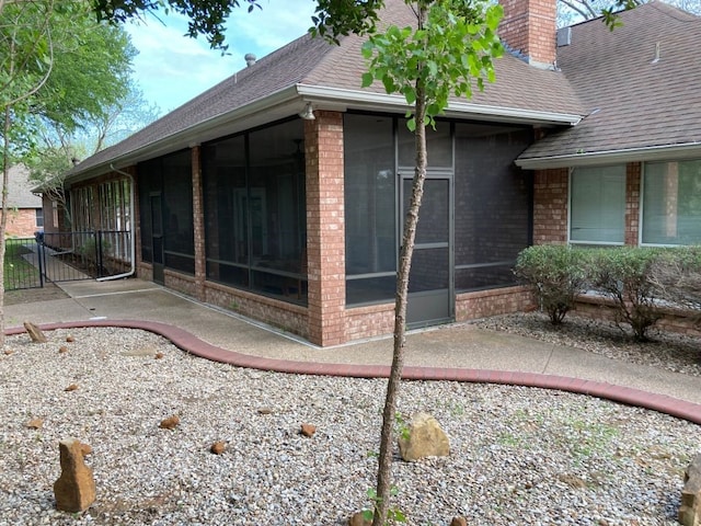
[[[134,54],[124,30],[95,22],[88,0],[0,3],[0,261],[4,261],[10,167],[36,153],[43,123],[71,134],[124,98]],[[3,299],[0,266],[0,344],[4,343]]]

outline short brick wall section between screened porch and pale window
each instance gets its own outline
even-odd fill
[[[533,183],[533,244],[567,242],[568,169],[538,170]]]

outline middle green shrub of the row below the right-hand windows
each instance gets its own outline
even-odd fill
[[[594,289],[613,301],[617,325],[628,323],[639,341],[647,340],[647,330],[662,317],[651,275],[663,254],[659,249],[617,247],[598,249],[590,259]]]

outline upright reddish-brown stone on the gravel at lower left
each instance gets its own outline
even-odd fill
[[[95,479],[83,461],[84,446],[74,438],[58,444],[61,476],[54,483],[54,495],[56,508],[62,512],[83,512],[95,502]]]

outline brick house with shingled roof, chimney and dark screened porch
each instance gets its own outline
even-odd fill
[[[555,0],[502,3],[496,83],[428,135],[411,327],[529,306],[532,243],[701,242],[700,19],[558,32]],[[402,96],[359,88],[360,45],[302,36],[84,160],[72,228],[128,218],[137,275],[319,345],[391,333],[413,137]]]

